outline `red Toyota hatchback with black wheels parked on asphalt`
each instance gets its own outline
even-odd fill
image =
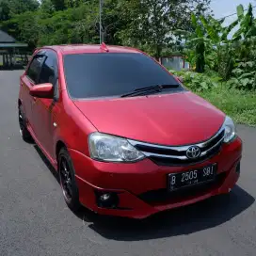
[[[37,49],[18,106],[73,210],[144,218],[229,193],[240,175],[232,119],[136,49]]]

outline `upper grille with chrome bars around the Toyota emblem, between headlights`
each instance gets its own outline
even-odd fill
[[[216,155],[222,147],[224,136],[225,130],[222,127],[215,136],[195,145],[171,147],[136,140],[129,140],[129,142],[158,166],[184,166],[200,163]],[[201,152],[200,156],[195,159],[186,156],[186,151],[192,146],[199,147]]]

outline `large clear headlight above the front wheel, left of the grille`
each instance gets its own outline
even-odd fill
[[[90,157],[105,162],[135,162],[143,159],[142,152],[136,150],[126,139],[100,133],[88,138]]]

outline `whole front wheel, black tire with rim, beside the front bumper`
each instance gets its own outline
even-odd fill
[[[72,159],[66,148],[62,148],[59,151],[57,163],[59,182],[64,200],[73,212],[77,212],[81,208],[79,191],[75,182],[75,171],[72,165]]]

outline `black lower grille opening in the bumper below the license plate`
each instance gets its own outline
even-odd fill
[[[219,187],[225,181],[227,173],[222,172],[216,176],[216,180],[206,184],[195,184],[179,190],[168,192],[168,188],[151,190],[140,194],[138,198],[151,205],[161,203],[176,203],[183,200],[196,198]]]

